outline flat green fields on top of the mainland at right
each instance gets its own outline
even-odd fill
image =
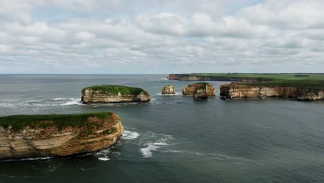
[[[244,83],[252,86],[282,86],[303,89],[324,89],[324,73],[188,73],[175,76],[199,76],[211,80],[255,79],[259,82]]]

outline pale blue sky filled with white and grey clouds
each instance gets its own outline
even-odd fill
[[[324,71],[322,0],[0,4],[0,73]]]

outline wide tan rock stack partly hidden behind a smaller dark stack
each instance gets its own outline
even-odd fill
[[[206,90],[207,96],[215,96],[216,95],[215,87],[207,82],[197,82],[195,84],[188,85],[188,87],[184,87],[182,89],[182,94],[193,96],[197,92],[197,89]]]

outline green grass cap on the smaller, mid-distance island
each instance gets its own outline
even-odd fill
[[[93,91],[100,91],[104,94],[122,94],[124,95],[138,95],[141,94],[144,90],[137,87],[126,87],[119,85],[101,85],[101,86],[92,86],[86,87],[84,89],[91,89]]]

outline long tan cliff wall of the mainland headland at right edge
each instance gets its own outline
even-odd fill
[[[324,91],[320,89],[302,89],[281,86],[253,86],[244,83],[231,83],[220,86],[220,95],[226,98],[267,98],[285,97],[298,101],[314,101],[324,99]]]

